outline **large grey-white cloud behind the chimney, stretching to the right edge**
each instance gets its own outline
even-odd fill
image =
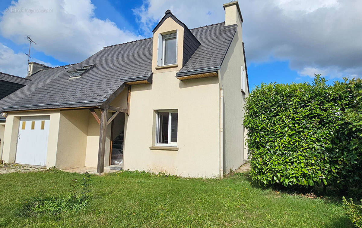
[[[193,28],[224,21],[225,2],[145,0],[134,13],[150,35],[166,9]],[[362,76],[361,1],[244,0],[239,5],[248,63],[289,61],[301,76]]]

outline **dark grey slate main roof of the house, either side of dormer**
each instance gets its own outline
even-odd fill
[[[219,69],[237,25],[224,22],[190,29],[201,43],[178,75]],[[152,77],[152,38],[104,47],[83,62],[39,71],[27,86],[0,100],[0,111],[100,106],[126,82]],[[72,70],[96,64],[81,77]]]

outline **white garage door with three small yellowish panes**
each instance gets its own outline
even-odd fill
[[[21,117],[15,162],[46,166],[49,116]]]

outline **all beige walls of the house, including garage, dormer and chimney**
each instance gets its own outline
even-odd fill
[[[237,5],[227,4],[226,24],[237,32],[217,76],[179,80],[182,68],[184,27],[167,18],[153,34],[151,84],[132,85],[129,115],[106,130],[104,165],[110,164],[111,139],[124,129],[123,169],[167,172],[184,177],[219,177],[247,159],[243,126],[247,84],[242,88],[244,67],[241,17]],[[177,31],[177,64],[157,66],[158,34]],[[247,83],[245,78],[244,83]],[[126,87],[109,105],[127,108]],[[157,110],[177,110],[177,145],[154,147]],[[101,116],[100,109],[96,109]],[[112,113],[108,113],[108,118]],[[50,117],[46,167],[60,169],[97,167],[100,124],[89,109],[9,112],[4,128],[3,160],[14,162],[20,118]],[[107,119],[108,119],[107,118]],[[122,121],[120,123],[119,121]],[[117,129],[112,132],[112,127]],[[2,129],[0,125],[0,137]],[[111,136],[113,134],[113,136]],[[1,148],[0,148],[1,149]]]

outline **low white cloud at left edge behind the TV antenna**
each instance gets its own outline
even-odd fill
[[[32,61],[55,67],[49,62],[32,59]],[[14,53],[13,49],[0,43],[0,72],[25,77],[28,70],[28,57],[22,53]]]

